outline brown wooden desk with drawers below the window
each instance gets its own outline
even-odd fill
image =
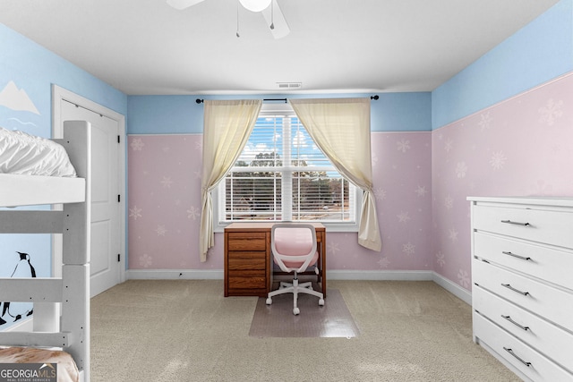
[[[267,297],[272,287],[273,261],[270,250],[272,222],[241,222],[225,228],[225,297]],[[316,230],[319,257],[319,283],[326,297],[326,228],[312,223]]]

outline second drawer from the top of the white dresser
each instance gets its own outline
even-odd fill
[[[474,255],[573,290],[573,251],[476,232]]]

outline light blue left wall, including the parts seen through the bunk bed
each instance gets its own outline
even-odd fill
[[[124,93],[0,24],[0,126],[50,137],[52,84],[127,113]],[[0,234],[0,276],[12,275],[20,259],[16,251],[30,254],[38,277],[50,276],[50,242],[49,234]]]

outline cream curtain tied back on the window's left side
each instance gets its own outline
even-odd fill
[[[261,99],[205,100],[203,122],[203,166],[201,173],[201,261],[213,246],[213,200],[211,193],[241,154],[261,110]]]

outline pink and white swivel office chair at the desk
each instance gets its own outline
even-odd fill
[[[283,293],[293,293],[293,313],[299,314],[301,310],[296,306],[298,293],[312,294],[319,298],[319,305],[324,305],[322,293],[312,290],[312,283],[298,284],[298,273],[312,267],[319,259],[316,250],[316,231],[313,225],[297,223],[278,223],[272,226],[270,232],[270,249],[275,263],[283,272],[294,272],[292,283],[280,283],[276,291],[269,292],[267,305],[272,303],[272,297]],[[318,274],[318,268],[315,269]]]

